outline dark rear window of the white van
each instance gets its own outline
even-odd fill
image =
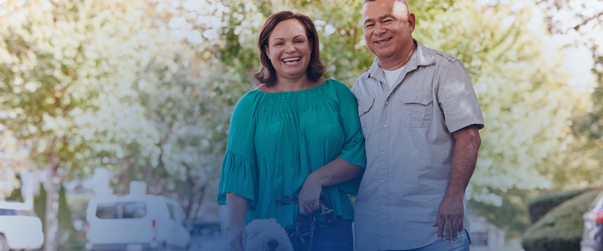
[[[98,203],[98,218],[142,218],[147,215],[147,204],[144,202]]]

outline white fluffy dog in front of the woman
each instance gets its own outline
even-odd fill
[[[245,231],[245,251],[293,251],[287,232],[275,218],[253,220]]]

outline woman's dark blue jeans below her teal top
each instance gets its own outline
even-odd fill
[[[309,225],[301,227],[301,233],[307,233],[310,230]],[[293,250],[305,251],[300,239],[295,235],[295,229],[287,231],[289,240],[293,244]],[[306,235],[305,241],[308,243],[309,235]],[[337,217],[335,226],[315,226],[314,237],[312,237],[312,251],[352,251],[353,250],[352,220]]]

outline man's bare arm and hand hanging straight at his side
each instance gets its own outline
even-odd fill
[[[479,137],[478,125],[470,125],[452,132],[456,140],[454,152],[452,153],[452,168],[448,188],[444,199],[438,208],[438,215],[432,226],[438,227],[438,240],[443,238],[443,230],[446,228],[446,243],[456,241],[459,232],[463,232],[463,200],[465,189],[469,179],[475,170],[478,160],[478,149],[482,143]]]

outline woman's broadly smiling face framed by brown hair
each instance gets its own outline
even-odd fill
[[[298,20],[288,19],[277,24],[265,50],[278,76],[291,79],[306,75],[312,41]]]

